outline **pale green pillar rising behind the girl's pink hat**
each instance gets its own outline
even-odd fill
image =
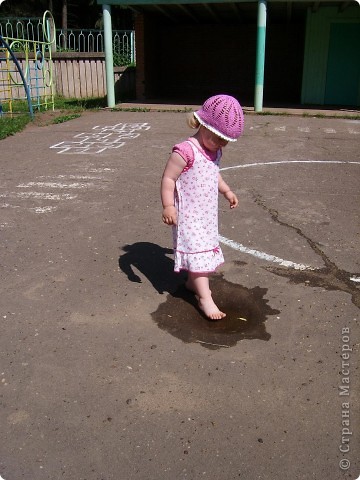
[[[261,112],[264,98],[265,71],[265,38],[266,38],[266,0],[258,2],[256,70],[255,70],[255,112]]]

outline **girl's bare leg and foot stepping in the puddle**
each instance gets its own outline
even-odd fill
[[[189,272],[186,288],[195,292],[198,296],[199,307],[211,320],[221,320],[226,316],[216,306],[209,287],[209,275],[205,273]]]

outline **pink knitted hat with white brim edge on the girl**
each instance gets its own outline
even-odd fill
[[[201,125],[228,142],[235,142],[244,130],[240,103],[230,95],[215,95],[194,112]]]

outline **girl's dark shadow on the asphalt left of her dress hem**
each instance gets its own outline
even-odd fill
[[[119,267],[130,282],[142,283],[136,271],[142,273],[158,293],[174,294],[185,281],[186,274],[174,273],[174,262],[167,255],[173,250],[155,243],[137,242],[125,245],[119,258]],[[185,290],[185,289],[184,289]]]

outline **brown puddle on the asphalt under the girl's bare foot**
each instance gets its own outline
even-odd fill
[[[167,300],[152,313],[155,323],[166,332],[186,343],[199,343],[205,348],[229,348],[244,339],[269,340],[265,321],[278,310],[268,305],[266,288],[245,288],[231,283],[223,275],[210,280],[215,303],[226,317],[208,320],[197,306],[193,293],[180,285]]]

